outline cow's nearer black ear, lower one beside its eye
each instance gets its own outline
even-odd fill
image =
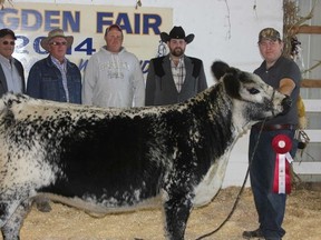
[[[223,78],[223,83],[226,93],[231,98],[240,99],[240,88],[241,88],[241,82],[240,82],[240,70],[230,68],[227,73]]]

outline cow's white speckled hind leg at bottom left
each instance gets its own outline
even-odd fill
[[[31,208],[31,200],[26,200],[20,203],[13,214],[1,228],[3,240],[19,240],[20,229],[22,227],[23,219]]]

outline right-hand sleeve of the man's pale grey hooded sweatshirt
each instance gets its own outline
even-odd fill
[[[135,57],[134,68],[134,107],[142,107],[145,104],[145,82],[143,71],[138,59]]]

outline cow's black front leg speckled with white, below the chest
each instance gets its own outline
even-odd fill
[[[168,240],[183,240],[189,212],[192,210],[192,197],[169,197],[164,203],[165,231]]]

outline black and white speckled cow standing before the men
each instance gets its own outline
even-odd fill
[[[184,239],[193,206],[217,193],[228,153],[250,126],[286,108],[255,74],[167,107],[100,109],[7,94],[0,100],[0,227],[19,239],[35,198],[96,213],[162,204],[165,233]]]

